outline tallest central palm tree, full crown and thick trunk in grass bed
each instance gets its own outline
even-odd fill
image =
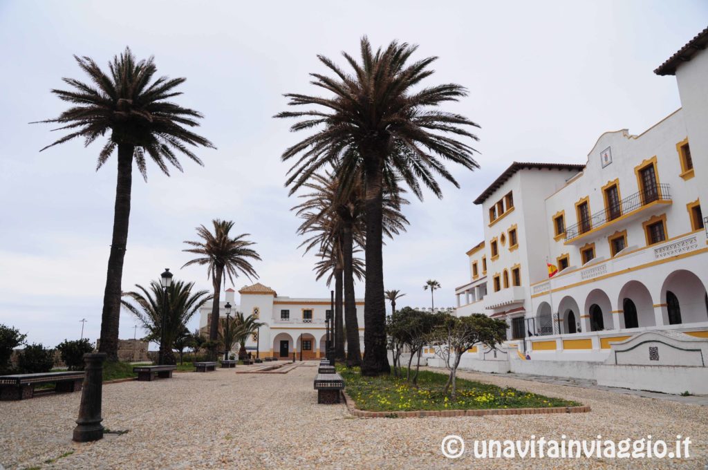
[[[343,53],[353,69],[348,73],[326,57],[320,61],[334,76],[312,74],[315,86],[331,93],[329,98],[288,93],[289,105],[312,105],[302,111],[275,117],[298,119],[291,130],[315,132],[285,150],[284,161],[295,158],[286,184],[291,193],[312,178],[319,168],[332,164],[344,180],[355,178],[352,168],[363,168],[366,213],[366,295],[364,306],[365,357],[362,374],[390,373],[386,350],[386,312],[382,259],[382,200],[384,182],[391,172],[399,175],[421,197],[421,181],[442,196],[435,174],[459,187],[442,161],[478,168],[474,149],[457,137],[476,140],[465,126],[479,127],[466,117],[445,113],[438,106],[459,101],[467,90],[457,84],[416,88],[433,74],[436,57],[408,63],[416,46],[391,42],[372,51],[361,40],[361,61]],[[450,135],[452,134],[452,135]],[[348,151],[355,149],[355,151]]]

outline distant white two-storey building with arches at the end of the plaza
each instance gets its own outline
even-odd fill
[[[241,302],[236,303],[235,292],[227,289],[220,302],[219,316],[226,318],[224,305],[232,305],[234,312],[256,315],[264,323],[255,338],[249,338],[246,349],[260,357],[292,357],[293,353],[302,359],[324,357],[326,349],[326,314],[331,309],[331,299],[279,297],[275,290],[260,282],[239,290]],[[360,348],[364,351],[364,301],[356,299],[357,318],[360,331]],[[212,304],[200,309],[200,331],[207,331],[212,313]],[[238,348],[236,347],[237,352]]]

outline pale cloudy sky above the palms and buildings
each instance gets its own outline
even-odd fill
[[[154,55],[159,74],[185,76],[182,105],[205,115],[200,131],[217,150],[205,167],[184,162],[170,178],[135,176],[123,288],[169,267],[210,289],[205,270],[180,270],[183,241],[220,217],[258,243],[261,282],[291,297],[322,296],[312,256],[295,236],[295,200],[282,183],[280,154],[302,138],[272,116],[286,92],[313,92],[316,55],[341,62],[368,35],[420,45],[439,56],[428,81],[455,81],[469,97],[447,110],[479,122],[481,169],[451,168],[461,189],[406,208],[408,233],[384,251],[387,289],[403,304],[426,306],[428,278],[452,306],[467,282],[467,249],[481,240],[472,200],[512,161],[585,163],[602,132],[639,133],[680,106],[673,77],[652,73],[708,23],[704,1],[0,1],[0,323],[54,346],[95,340],[115,197],[115,156],[96,172],[100,144],[55,139],[47,125],[64,104],[50,94],[63,76],[83,78],[72,55],[105,64],[129,45]],[[246,284],[236,281],[236,288]],[[362,295],[362,286],[357,287]],[[135,319],[123,314],[121,338]],[[195,321],[193,325],[195,326]],[[138,332],[138,335],[140,333]]]

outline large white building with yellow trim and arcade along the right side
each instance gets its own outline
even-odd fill
[[[585,165],[514,163],[474,201],[484,241],[467,252],[457,314],[506,319],[506,367],[616,384],[607,367],[621,364],[620,346],[656,342],[636,360],[676,366],[695,360],[682,348],[708,344],[707,45],[708,29],[655,71],[675,74],[682,108],[641,134],[605,132]],[[558,268],[550,278],[547,262]],[[647,371],[653,389],[683,377]]]

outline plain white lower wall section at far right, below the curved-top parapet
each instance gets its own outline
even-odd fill
[[[661,391],[664,394],[708,395],[708,367],[598,365],[598,385]]]

